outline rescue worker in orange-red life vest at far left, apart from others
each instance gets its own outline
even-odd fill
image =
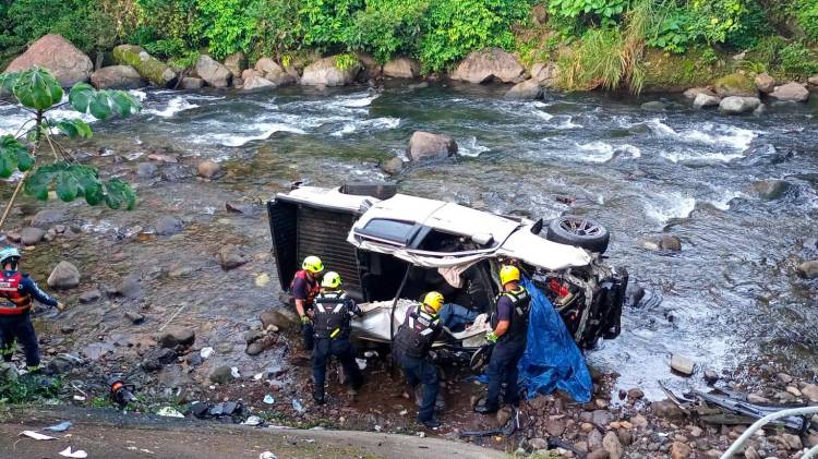
[[[0,353],[3,361],[11,362],[16,340],[25,351],[25,365],[31,373],[39,370],[39,345],[31,319],[33,300],[60,311],[65,306],[17,270],[21,258],[14,247],[0,250]]]

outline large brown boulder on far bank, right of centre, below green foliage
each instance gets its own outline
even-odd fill
[[[510,52],[500,48],[485,48],[474,51],[464,59],[452,73],[452,80],[474,84],[497,80],[503,83],[518,83],[526,69]]]

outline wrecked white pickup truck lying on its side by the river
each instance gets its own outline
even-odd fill
[[[396,194],[394,185],[376,184],[296,184],[270,200],[267,212],[284,290],[300,262],[317,255],[359,302],[416,300],[437,290],[447,303],[484,313],[500,292],[500,263],[516,259],[580,348],[619,335],[628,274],[603,262],[609,233],[585,217],[552,220],[541,237],[542,220]]]

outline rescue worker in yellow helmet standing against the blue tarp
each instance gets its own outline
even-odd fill
[[[500,283],[503,291],[495,301],[492,311],[491,326],[493,330],[486,335],[490,342],[494,342],[486,374],[489,390],[474,411],[481,414],[496,412],[500,408],[500,391],[505,384],[505,402],[519,402],[517,385],[517,363],[526,351],[528,334],[528,312],[531,298],[519,285],[520,270],[516,266],[506,265],[500,269]]]

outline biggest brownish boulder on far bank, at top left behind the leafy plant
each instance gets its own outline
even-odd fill
[[[35,12],[32,12],[35,14]],[[48,69],[63,87],[87,82],[94,64],[82,51],[59,35],[44,35],[28,50],[11,61],[5,72],[16,72],[38,65]]]

